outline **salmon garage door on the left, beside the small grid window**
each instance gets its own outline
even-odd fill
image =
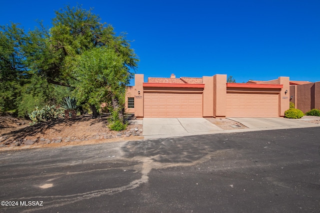
[[[199,118],[202,94],[144,92],[143,106],[145,118]]]

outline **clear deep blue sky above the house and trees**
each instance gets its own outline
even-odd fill
[[[320,0],[1,0],[0,24],[51,26],[54,10],[77,2],[134,40],[145,81],[171,73],[320,81]]]

